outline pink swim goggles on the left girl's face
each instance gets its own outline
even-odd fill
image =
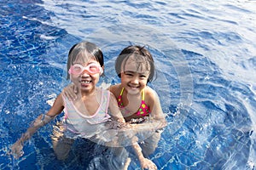
[[[100,73],[102,74],[102,67],[96,63],[91,63],[90,65],[83,66],[79,64],[72,65],[68,71],[69,74],[79,75],[84,71],[88,71],[90,74]]]

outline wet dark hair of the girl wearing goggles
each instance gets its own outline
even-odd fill
[[[70,69],[71,65],[73,65],[73,62],[78,58],[96,59],[101,66],[104,65],[102,50],[92,42],[79,42],[70,48],[67,59],[67,71]],[[70,76],[67,74],[67,80],[69,78]]]

